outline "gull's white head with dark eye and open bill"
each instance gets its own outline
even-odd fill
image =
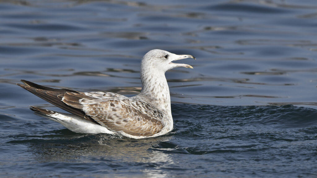
[[[186,68],[193,68],[188,64],[176,64],[172,63],[174,60],[181,60],[192,58],[196,59],[192,55],[182,54],[177,55],[170,53],[168,51],[160,50],[160,49],[153,49],[147,52],[141,62],[141,70],[155,70],[155,72],[163,72],[175,68],[175,67],[186,67]]]

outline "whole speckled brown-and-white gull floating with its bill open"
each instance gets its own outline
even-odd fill
[[[61,123],[76,133],[118,134],[130,138],[157,137],[173,129],[170,91],[165,72],[175,67],[193,68],[172,63],[192,55],[177,55],[153,49],[141,60],[141,92],[126,97],[113,92],[77,92],[55,89],[21,80],[17,84],[69,113],[35,106],[30,109],[45,118]]]

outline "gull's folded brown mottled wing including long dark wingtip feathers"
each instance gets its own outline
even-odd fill
[[[115,132],[152,136],[163,125],[163,114],[147,103],[111,92],[77,92],[21,80],[22,88],[72,114]]]

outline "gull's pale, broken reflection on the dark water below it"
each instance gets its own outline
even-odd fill
[[[153,145],[171,139],[169,135],[147,139],[113,137],[107,134],[68,136],[70,137],[35,141],[32,149],[37,161],[67,165],[89,163],[89,170],[95,173],[105,170],[107,173],[141,171],[145,175],[138,173],[138,176],[153,178],[168,176],[162,168],[173,164],[168,154],[152,149]]]

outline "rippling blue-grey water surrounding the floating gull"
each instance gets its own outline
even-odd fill
[[[317,177],[317,3],[0,3],[0,177]],[[20,79],[140,91],[151,49],[191,54],[166,73],[174,129],[134,140],[76,134]]]

